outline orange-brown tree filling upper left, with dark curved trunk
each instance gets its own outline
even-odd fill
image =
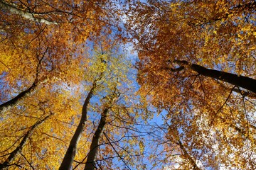
[[[77,83],[78,79],[66,77],[66,73],[75,71],[72,65],[82,62],[84,48],[78,46],[103,28],[107,32],[112,25],[111,21],[102,21],[111,18],[108,15],[112,10],[104,1],[1,1],[0,5],[3,87],[21,91],[16,96],[1,96],[5,102],[0,111],[31,94],[46,79],[72,79]],[[18,81],[23,86],[18,86]]]

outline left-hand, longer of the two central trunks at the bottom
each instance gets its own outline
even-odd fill
[[[82,106],[82,117],[80,119],[80,123],[78,124],[78,128],[75,130],[75,134],[73,135],[70,141],[70,145],[68,147],[67,152],[65,153],[63,162],[60,164],[60,170],[70,170],[72,167],[78,142],[81,138],[82,131],[85,128],[85,122],[87,121],[87,106],[89,105],[90,99],[92,98],[92,94],[95,91],[97,85],[96,82],[97,80],[93,82],[92,88],[90,89],[89,93],[87,94],[87,97],[85,98],[85,102]]]

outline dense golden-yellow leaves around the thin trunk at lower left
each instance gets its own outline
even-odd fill
[[[51,98],[49,98],[51,96]],[[67,98],[70,98],[67,100]],[[42,88],[26,98],[16,108],[4,113],[1,119],[1,154],[8,154],[15,149],[23,135],[28,132],[36,121],[53,113],[43,124],[39,125],[29,137],[26,145],[15,159],[24,168],[31,166],[36,169],[44,169],[48,165],[58,169],[61,156],[65,152],[67,141],[73,135],[77,121],[77,113],[80,111],[78,98],[66,91],[50,91]],[[7,157],[8,155],[6,155]],[[6,157],[1,157],[3,162]]]

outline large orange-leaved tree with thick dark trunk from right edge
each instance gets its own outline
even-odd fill
[[[148,1],[128,13],[140,91],[205,168],[255,167],[255,5]]]

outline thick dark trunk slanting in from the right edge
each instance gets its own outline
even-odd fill
[[[191,64],[184,60],[174,60],[174,62],[176,62],[177,64],[180,64],[181,69],[183,69],[184,67],[188,67],[193,71],[198,72],[198,74],[201,74],[205,77],[211,77],[213,79],[225,81],[235,86],[242,87],[244,89],[252,91],[256,94],[256,80],[250,77],[238,76],[237,74],[221,72],[215,69],[207,69],[206,67],[202,67],[198,64]],[[171,69],[171,70],[174,70],[174,69]]]

